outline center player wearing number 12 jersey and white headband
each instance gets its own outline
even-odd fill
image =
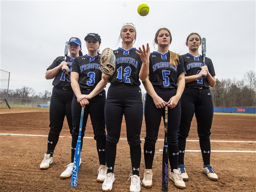
[[[140,57],[133,47],[136,28],[132,23],[125,23],[120,32],[122,47],[114,50],[116,68],[113,76],[102,73],[102,77],[111,85],[105,104],[107,128],[106,161],[107,177],[102,184],[103,191],[111,191],[116,160],[116,145],[119,142],[123,115],[125,116],[127,140],[130,145],[132,174],[130,174],[131,192],[140,192],[140,131],[143,119],[142,94],[139,73],[142,65]]]

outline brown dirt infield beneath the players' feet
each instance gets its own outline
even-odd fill
[[[12,113],[6,113],[12,112]],[[198,140],[195,119],[188,140]],[[101,191],[101,183],[96,182],[99,161],[96,141],[84,139],[81,151],[82,164],[79,168],[79,180],[76,188],[70,187],[70,179],[62,180],[59,176],[70,163],[71,138],[67,122],[61,132],[53,156],[53,163],[47,170],[40,170],[39,165],[47,150],[47,137],[20,136],[11,134],[28,134],[47,136],[49,131],[49,110],[0,110],[0,191]],[[5,135],[7,134],[7,135]],[[9,134],[9,135],[8,135]],[[93,137],[90,122],[87,123],[85,137]],[[158,139],[163,139],[163,125]],[[202,173],[200,152],[186,152],[185,162],[189,180],[186,189],[177,189],[172,181],[169,191],[183,192],[254,192],[256,191],[256,151],[254,142],[216,142],[216,141],[256,141],[256,117],[215,115],[212,125],[211,165],[217,172],[219,180],[214,182]],[[145,122],[141,138],[145,137]],[[121,138],[126,138],[125,121],[123,121]],[[143,148],[144,140],[142,140]],[[199,150],[198,141],[188,141],[186,150]],[[161,163],[163,141],[157,141],[153,164],[153,187],[141,192],[161,191]],[[219,150],[218,152],[214,152]],[[229,152],[229,151],[240,152]],[[142,151],[140,178],[143,177],[144,157]],[[127,140],[120,140],[117,145],[115,165],[115,182],[113,192],[128,192],[131,173],[131,160]]]

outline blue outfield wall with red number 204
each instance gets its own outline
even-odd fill
[[[256,108],[214,107],[214,112],[219,112],[219,113],[256,113]]]

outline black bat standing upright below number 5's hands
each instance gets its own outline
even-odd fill
[[[163,144],[163,162],[162,162],[162,191],[168,192],[168,144],[167,144],[167,125],[168,125],[168,105],[165,106],[164,117],[164,144]]]

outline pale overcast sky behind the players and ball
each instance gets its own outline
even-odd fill
[[[150,7],[145,17],[137,7]],[[149,43],[161,27],[172,33],[169,49],[185,54],[186,37],[198,32],[206,38],[207,57],[212,59],[216,78],[243,79],[256,67],[256,2],[253,1],[3,1],[1,0],[1,70],[10,72],[9,89],[31,87],[37,92],[52,91],[45,79],[47,67],[64,55],[71,37],[82,41],[98,33],[101,50],[116,49],[120,29],[131,22],[137,28],[134,47]],[[117,45],[116,45],[117,44]],[[201,50],[200,50],[201,51]],[[1,71],[1,89],[7,89],[8,73]]]

